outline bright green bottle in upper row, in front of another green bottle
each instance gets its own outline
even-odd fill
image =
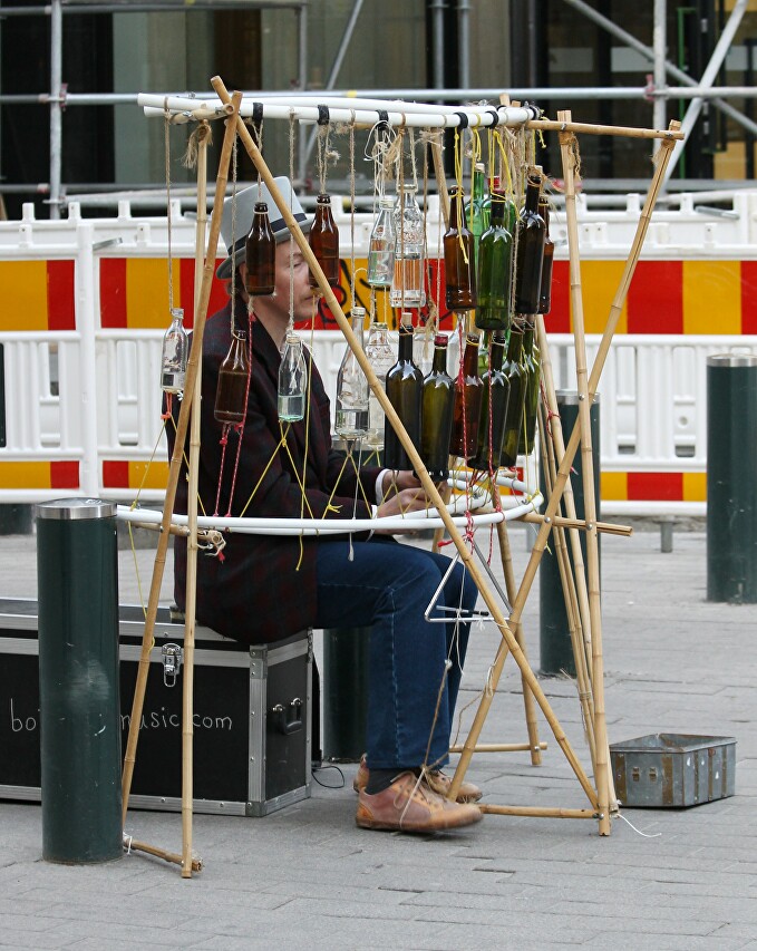
[[[498,192],[492,195],[492,223],[478,248],[478,307],[476,327],[504,330],[509,327],[513,289],[513,236],[505,227],[509,203]]]

